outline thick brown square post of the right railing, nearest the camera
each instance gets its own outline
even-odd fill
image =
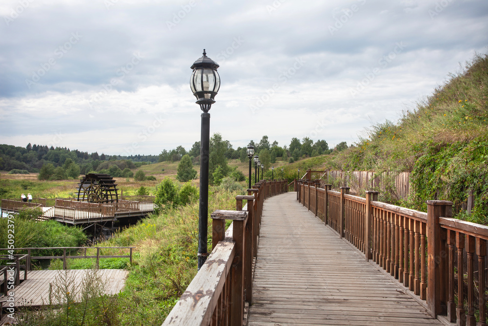
[[[435,318],[447,311],[446,298],[446,231],[439,217],[452,217],[452,202],[427,200],[427,308]]]

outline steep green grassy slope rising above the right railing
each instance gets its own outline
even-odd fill
[[[398,123],[372,126],[341,156],[347,170],[411,172],[413,208],[426,200],[451,200],[458,217],[488,222],[488,55],[449,75]],[[464,211],[469,192],[472,214]]]

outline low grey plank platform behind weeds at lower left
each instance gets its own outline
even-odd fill
[[[72,269],[74,283],[79,286],[85,273],[85,269]],[[58,270],[36,270],[27,272],[27,280],[15,287],[15,306],[29,305],[39,306],[49,301],[49,283],[54,283]],[[23,273],[23,272],[22,272]],[[128,271],[124,269],[100,269],[99,275],[106,282],[105,293],[119,293],[124,284]],[[2,298],[0,298],[1,300]],[[3,298],[4,299],[4,298]]]

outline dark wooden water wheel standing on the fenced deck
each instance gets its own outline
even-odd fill
[[[117,184],[110,174],[86,174],[78,184],[78,201],[91,203],[118,202]]]

